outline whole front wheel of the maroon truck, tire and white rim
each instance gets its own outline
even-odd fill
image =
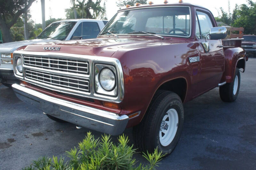
[[[133,128],[135,146],[140,152],[153,152],[157,148],[163,154],[170,154],[180,139],[183,121],[180,97],[170,91],[158,90],[143,120]]]

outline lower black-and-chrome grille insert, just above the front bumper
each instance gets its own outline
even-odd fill
[[[66,90],[76,90],[77,92],[90,92],[89,80],[84,78],[75,78],[66,75],[53,73],[44,73],[36,70],[25,70],[27,79],[39,83],[49,84]]]

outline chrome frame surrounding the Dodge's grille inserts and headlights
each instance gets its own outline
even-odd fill
[[[62,72],[62,71],[57,71],[57,70],[49,70],[49,69],[44,69],[44,68],[38,68],[38,67],[33,67],[33,66],[26,66],[24,65],[24,55],[33,55],[33,56],[44,56],[44,57],[49,57],[49,58],[66,58],[66,59],[79,59],[83,61],[87,61],[89,63],[89,73],[90,74],[77,74],[77,73],[67,73],[67,72]],[[123,98],[124,98],[124,77],[123,77],[123,69],[121,66],[121,63],[118,59],[116,58],[110,58],[110,57],[98,57],[98,56],[88,56],[88,55],[78,55],[78,54],[68,54],[68,53],[58,53],[58,52],[34,52],[34,51],[14,51],[13,53],[13,58],[15,56],[21,56],[22,59],[22,68],[23,68],[23,76],[17,75],[14,73],[14,75],[22,80],[29,82],[31,84],[37,85],[42,88],[46,89],[51,89],[55,91],[59,91],[62,93],[67,93],[67,94],[73,94],[77,96],[82,96],[82,97],[88,97],[92,99],[99,99],[103,101],[109,101],[109,102],[114,102],[114,103],[120,103]],[[13,61],[15,63],[15,61]],[[116,69],[116,77],[117,77],[117,95],[116,96],[110,96],[106,93],[104,94],[99,94],[95,92],[95,80],[94,80],[94,65],[97,63],[101,64],[106,64],[115,67]],[[41,71],[44,73],[54,73],[58,75],[63,75],[63,76],[72,76],[72,78],[86,78],[90,82],[90,91],[89,92],[78,92],[78,91],[72,91],[72,90],[67,90],[63,88],[59,88],[53,85],[47,85],[45,83],[39,82],[39,81],[34,81],[32,79],[28,79],[25,77],[25,70],[26,69],[33,69],[35,71]]]

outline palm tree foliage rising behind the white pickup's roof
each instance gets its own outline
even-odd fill
[[[102,0],[76,0],[77,19],[107,19],[105,1],[103,7],[101,6],[101,2]],[[65,12],[67,19],[75,19],[74,6],[66,9]]]

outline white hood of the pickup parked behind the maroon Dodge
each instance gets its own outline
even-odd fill
[[[42,42],[56,42],[56,41],[59,41],[59,40],[34,39],[34,40],[16,41],[16,42],[11,42],[11,43],[3,43],[3,44],[0,44],[0,51],[13,52],[13,51],[17,50],[18,48],[20,48],[21,46],[24,46],[24,45],[42,43]]]

